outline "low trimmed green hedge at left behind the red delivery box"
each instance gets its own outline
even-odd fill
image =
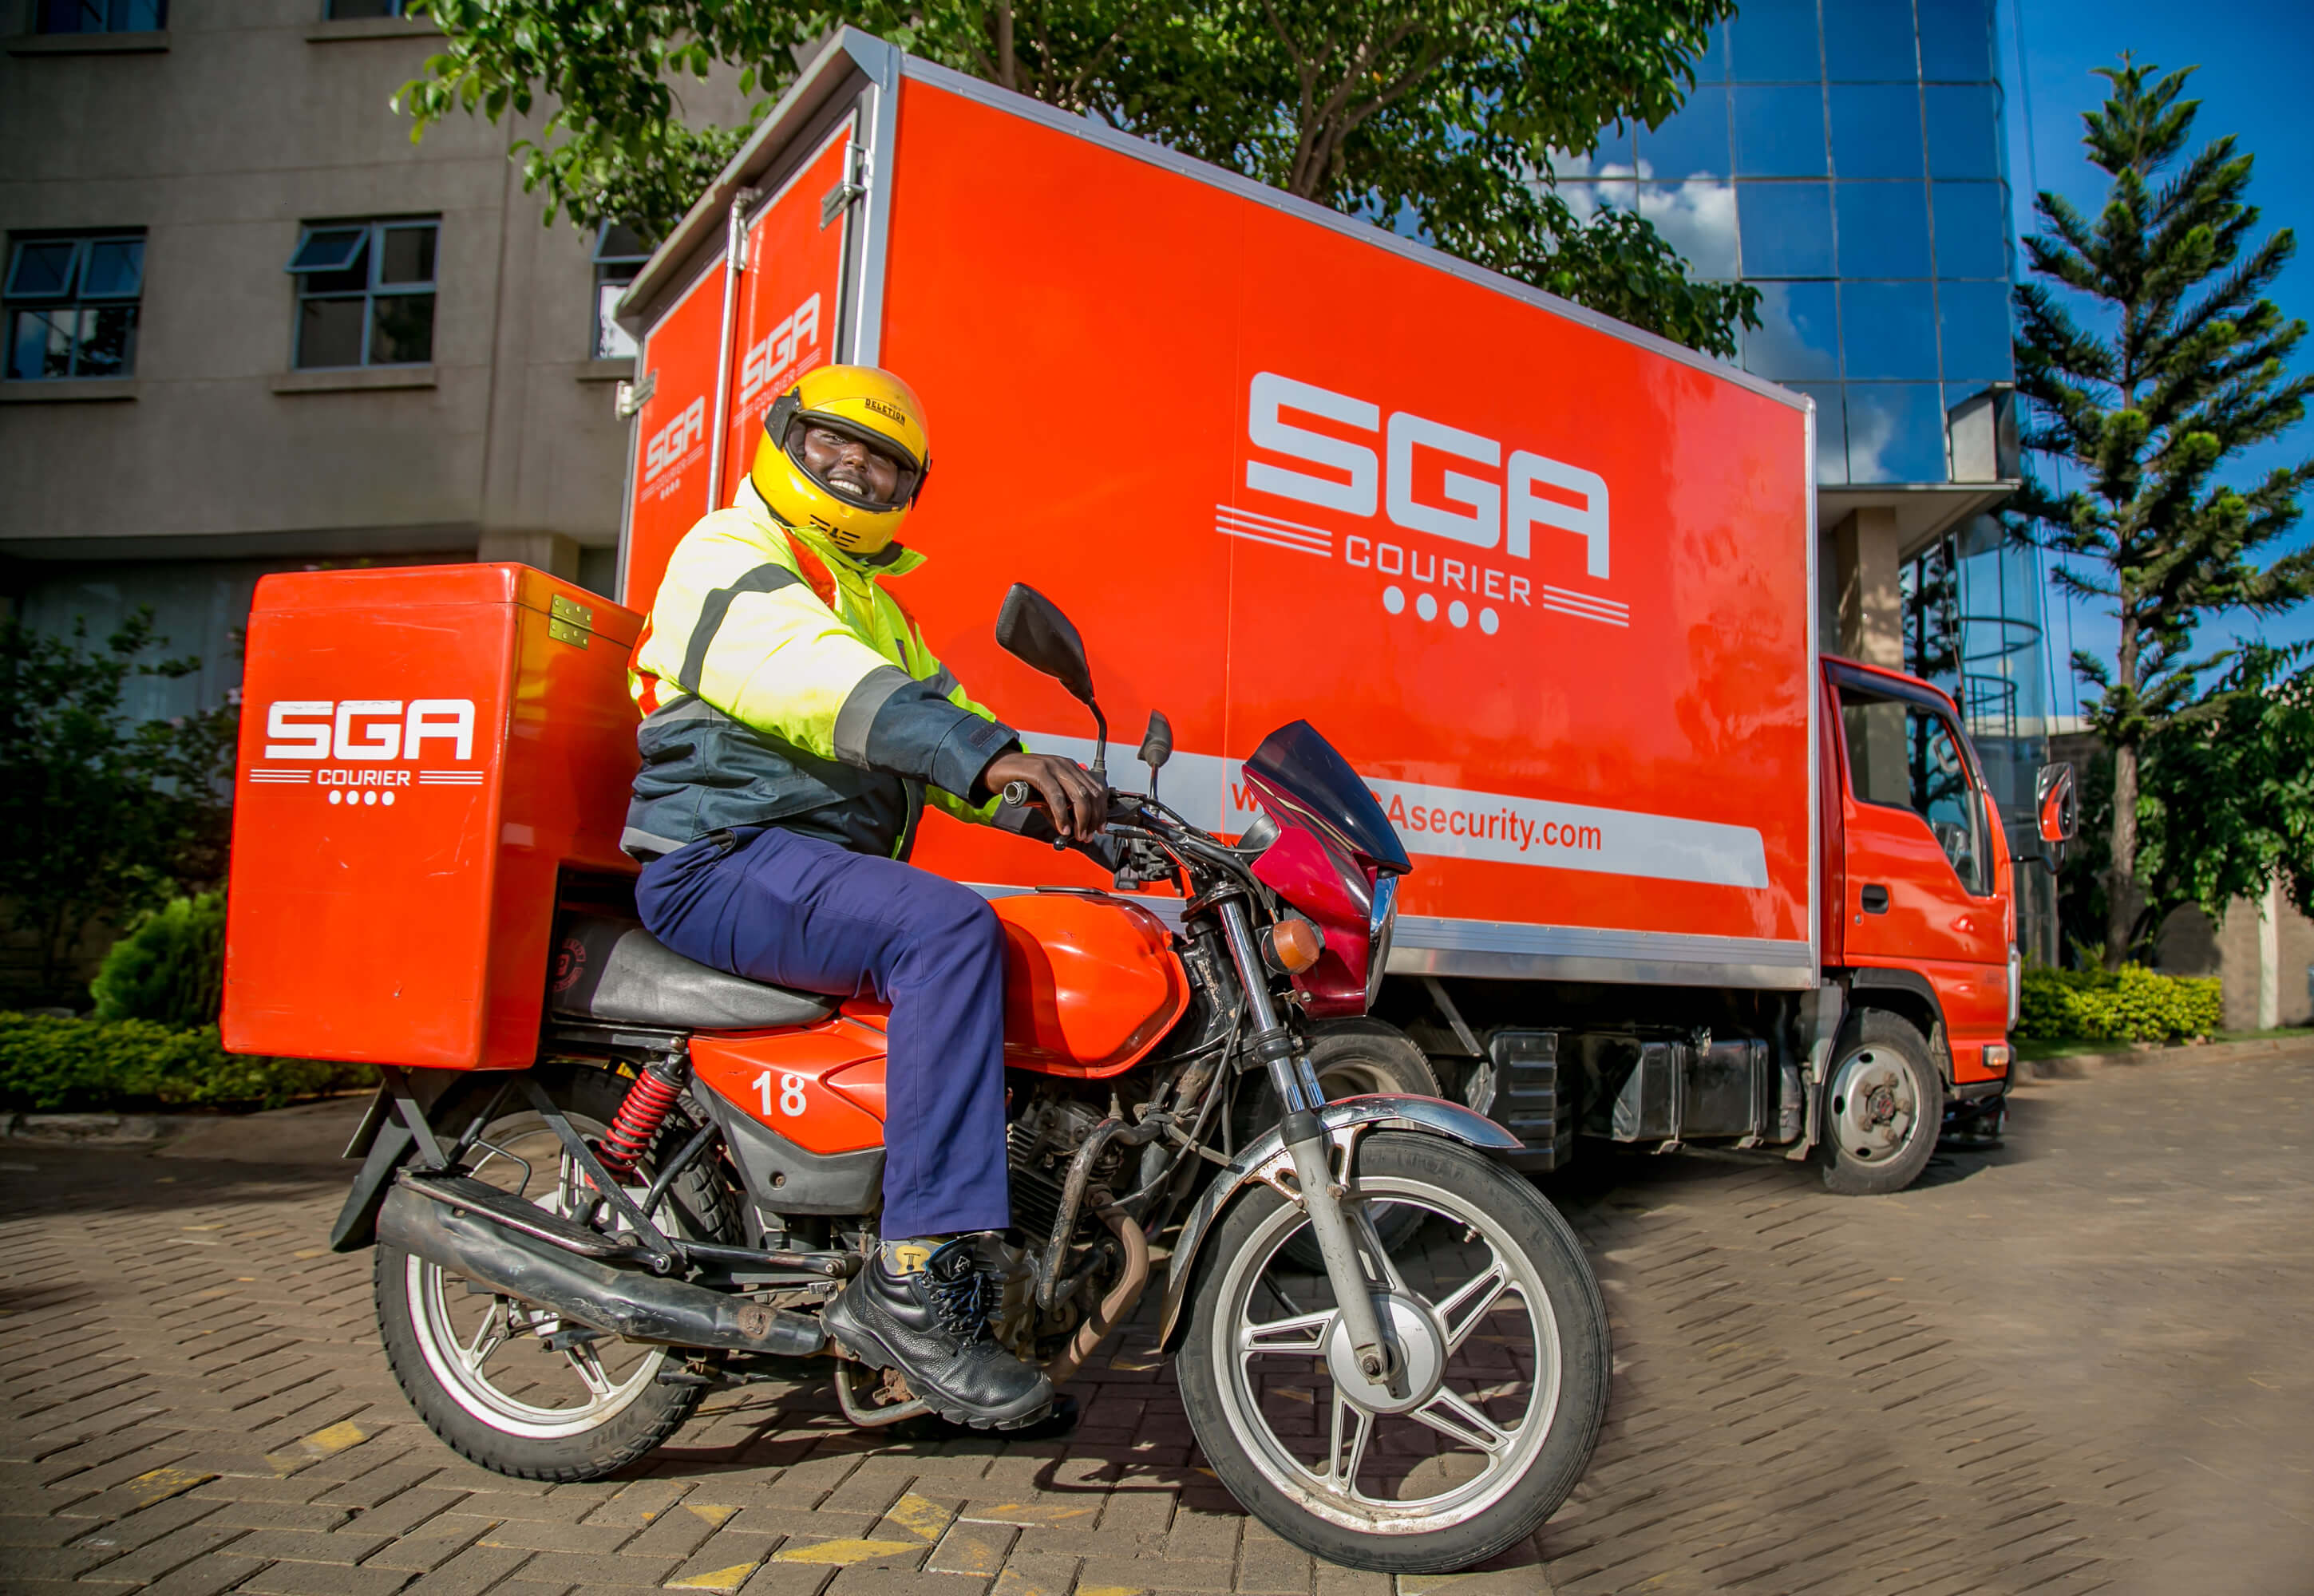
[[[375,1080],[368,1064],[227,1052],[215,1025],[0,1011],[0,1108],[280,1108]]]

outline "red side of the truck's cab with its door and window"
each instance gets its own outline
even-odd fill
[[[1951,712],[1904,682],[1842,671],[1847,789],[1842,962],[1921,974],[1944,1008],[1955,1080],[2009,1034],[2009,916],[1983,775]]]

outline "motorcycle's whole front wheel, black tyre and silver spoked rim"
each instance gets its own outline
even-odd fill
[[[1363,1226],[1398,1379],[1358,1372],[1326,1274],[1291,1244],[1307,1217],[1257,1187],[1201,1249],[1182,1406],[1222,1485],[1294,1545],[1379,1573],[1469,1568],[1583,1478],[1613,1372],[1606,1302],[1557,1210],[1486,1154],[1375,1131],[1354,1159],[1354,1205],[1421,1212],[1400,1237]]]

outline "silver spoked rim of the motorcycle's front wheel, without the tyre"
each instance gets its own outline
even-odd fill
[[[1400,1386],[1377,1392],[1363,1381],[1331,1302],[1277,1311],[1294,1302],[1280,1274],[1331,1298],[1321,1274],[1282,1256],[1307,1226],[1294,1205],[1270,1214],[1226,1263],[1213,1365],[1222,1411],[1270,1485],[1344,1529],[1414,1536],[1488,1510],[1527,1476],[1557,1413],[1560,1325],[1541,1272],[1474,1203],[1402,1175],[1361,1175],[1358,1191],[1370,1212],[1388,1200],[1423,1214],[1414,1237],[1384,1251],[1391,1288],[1375,1295],[1402,1353]],[[1421,1237],[1439,1226],[1449,1226],[1444,1247],[1423,1247]],[[1414,1265],[1446,1254],[1451,1265]],[[1504,1362],[1516,1379],[1502,1379]],[[1280,1432],[1275,1420],[1291,1411],[1280,1395],[1307,1402],[1314,1436],[1296,1443]],[[1425,1441],[1430,1457],[1421,1455]],[[1444,1487],[1430,1490],[1437,1480]]]

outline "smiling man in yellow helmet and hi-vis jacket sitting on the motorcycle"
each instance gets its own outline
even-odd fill
[[[824,1323],[935,1411],[1014,1427],[1053,1399],[995,1344],[1004,1177],[1004,934],[979,893],[907,865],[926,803],[990,821],[1027,782],[1064,840],[1101,786],[1027,754],[886,590],[930,467],[891,372],[826,365],[764,416],[731,509],[685,534],[634,652],[643,768],[625,847],[643,925],[752,981],[891,1004],[884,1242]]]

